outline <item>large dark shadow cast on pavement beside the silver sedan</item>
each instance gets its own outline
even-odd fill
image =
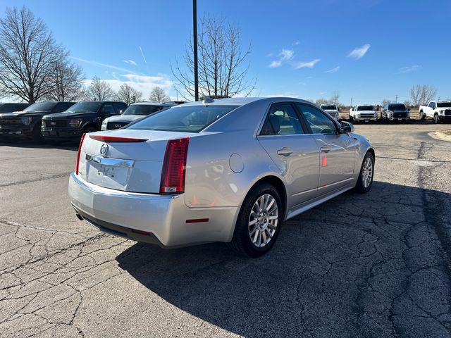
[[[451,194],[374,182],[288,220],[261,258],[138,243],[116,260],[168,303],[244,337],[439,337],[451,231],[438,225],[451,229],[450,204]]]

